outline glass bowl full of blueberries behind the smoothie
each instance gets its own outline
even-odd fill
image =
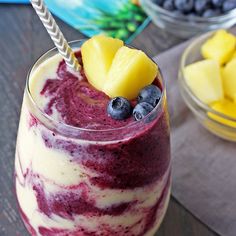
[[[181,38],[236,24],[236,0],[140,0],[158,27]]]

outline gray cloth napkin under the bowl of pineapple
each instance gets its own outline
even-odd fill
[[[236,28],[232,31],[236,33]],[[154,58],[167,81],[173,196],[218,234],[236,235],[236,143],[203,128],[180,96],[177,74],[189,42]]]

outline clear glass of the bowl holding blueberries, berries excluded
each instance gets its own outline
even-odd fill
[[[155,0],[140,0],[140,2],[154,24],[180,38],[189,38],[219,28],[230,28],[236,23],[236,9],[217,17],[203,18],[176,15],[159,7],[155,4]]]

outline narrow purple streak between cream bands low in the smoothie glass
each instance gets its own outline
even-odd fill
[[[111,205],[107,208],[98,208],[95,206],[96,199],[89,197],[89,190],[85,184],[77,186],[79,193],[75,189],[75,191],[69,193],[59,192],[49,197],[44,193],[42,185],[34,185],[33,189],[37,195],[39,209],[44,214],[47,216],[57,214],[67,219],[73,219],[74,215],[117,216],[129,210],[130,206],[135,204],[134,202],[125,202],[119,205]]]

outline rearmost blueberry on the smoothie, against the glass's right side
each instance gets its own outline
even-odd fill
[[[155,107],[161,99],[161,90],[151,84],[144,87],[138,95],[138,103],[147,102],[153,107]]]

